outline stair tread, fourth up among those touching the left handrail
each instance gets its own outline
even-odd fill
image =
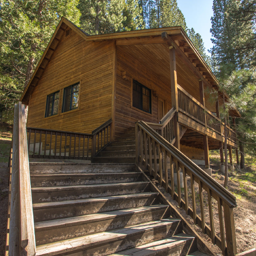
[[[106,188],[106,187],[126,187],[134,185],[148,185],[147,181],[135,181],[135,182],[123,182],[123,183],[107,183],[107,184],[94,184],[94,185],[76,185],[76,186],[58,186],[58,187],[43,187],[43,188],[31,188],[32,192],[49,192],[49,191],[62,191],[73,189],[91,189],[91,188]]]

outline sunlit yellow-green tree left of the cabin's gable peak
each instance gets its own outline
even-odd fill
[[[0,100],[4,115],[28,84],[52,33],[62,16],[78,24],[76,0],[1,0]]]

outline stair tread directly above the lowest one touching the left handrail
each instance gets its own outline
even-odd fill
[[[156,205],[143,206],[143,207],[132,208],[132,209],[116,210],[112,212],[87,214],[87,215],[69,217],[64,219],[39,221],[39,222],[35,222],[35,231],[38,229],[49,229],[52,227],[59,228],[62,226],[68,227],[68,226],[73,226],[74,224],[80,225],[80,224],[94,222],[94,221],[96,222],[96,221],[102,221],[102,220],[109,220],[109,219],[114,219],[117,216],[123,217],[126,215],[134,215],[134,214],[139,214],[143,212],[151,212],[157,209],[163,209],[167,207],[168,206],[164,204],[156,204]]]

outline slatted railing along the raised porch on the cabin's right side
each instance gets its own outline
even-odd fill
[[[178,85],[179,111],[196,122],[224,136],[224,123]],[[236,133],[228,126],[228,139],[236,143]]]

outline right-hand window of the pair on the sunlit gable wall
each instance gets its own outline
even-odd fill
[[[78,108],[79,83],[64,88],[62,112]]]

